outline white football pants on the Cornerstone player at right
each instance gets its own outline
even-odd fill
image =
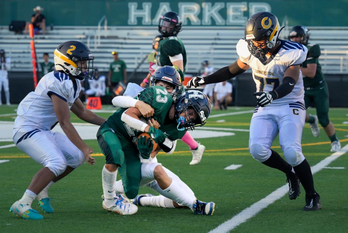
[[[282,106],[256,107],[250,123],[249,151],[260,162],[271,156],[271,146],[279,134],[285,160],[297,166],[304,160],[301,148],[306,108],[302,102]]]

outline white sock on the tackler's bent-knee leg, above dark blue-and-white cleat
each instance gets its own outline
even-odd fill
[[[181,206],[187,206],[189,208],[192,208],[193,202],[196,201],[194,196],[188,195],[174,180],[172,180],[171,185],[165,190],[162,190],[160,194],[175,201]]]

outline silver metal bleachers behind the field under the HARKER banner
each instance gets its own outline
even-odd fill
[[[209,60],[213,67],[229,65],[238,58],[236,44],[244,37],[244,27],[193,27],[183,26],[179,37],[185,44],[188,63],[187,73],[196,74],[203,60]],[[282,32],[286,39],[288,30]],[[310,43],[320,45],[322,55],[319,62],[326,74],[348,74],[348,27],[309,27]],[[62,42],[79,40],[86,43],[94,57],[94,66],[108,71],[112,61],[111,51],[118,51],[119,58],[132,72],[141,60],[152,51],[151,41],[157,35],[157,27],[108,26],[98,30],[97,26],[55,26],[45,35],[35,36],[38,60],[48,52],[53,61],[53,51]],[[100,38],[100,40],[99,40]],[[11,70],[30,72],[32,70],[30,37],[15,35],[8,26],[0,26],[0,49],[5,49],[11,58]],[[146,72],[145,61],[138,69]]]

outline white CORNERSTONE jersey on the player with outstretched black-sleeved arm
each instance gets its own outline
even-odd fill
[[[306,60],[307,51],[308,49],[302,44],[280,40],[280,45],[275,51],[276,55],[263,60],[254,57],[249,52],[248,43],[245,40],[241,39],[237,43],[239,59],[252,68],[256,92],[276,89],[283,82],[285,70],[289,66],[302,64]],[[283,98],[274,100],[271,106],[280,106],[297,101],[303,102],[303,97],[303,78],[300,70],[299,80],[292,92]]]

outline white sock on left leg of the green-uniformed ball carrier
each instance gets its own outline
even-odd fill
[[[102,181],[103,181],[103,192],[104,192],[104,202],[107,207],[114,204],[115,193],[115,182],[116,182],[117,170],[114,172],[109,172],[108,169],[103,167],[102,171]]]

